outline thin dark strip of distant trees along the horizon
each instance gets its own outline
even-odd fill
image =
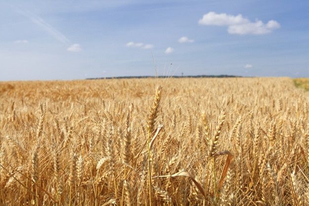
[[[102,79],[145,79],[145,78],[232,78],[242,77],[234,75],[189,75],[189,76],[128,76],[128,77],[99,77],[99,78],[87,78],[86,80],[102,80]]]

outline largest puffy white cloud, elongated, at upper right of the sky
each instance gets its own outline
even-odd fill
[[[203,15],[203,18],[198,23],[201,25],[228,26],[229,34],[238,35],[263,35],[280,28],[280,24],[274,20],[270,20],[264,24],[260,20],[251,22],[241,14],[233,16],[226,13],[217,14],[213,11]]]

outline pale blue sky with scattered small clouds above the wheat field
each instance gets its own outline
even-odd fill
[[[0,81],[309,77],[308,0],[0,2]],[[172,65],[171,65],[172,63]]]

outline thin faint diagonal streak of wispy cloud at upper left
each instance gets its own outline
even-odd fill
[[[24,15],[25,17],[29,18],[33,23],[38,25],[40,28],[45,30],[49,35],[54,37],[56,40],[62,42],[62,43],[69,43],[69,39],[62,34],[60,31],[58,31],[56,28],[48,24],[46,21],[44,21],[41,17],[35,15],[34,13],[31,13],[30,11],[23,10],[20,8],[16,8],[17,12]]]

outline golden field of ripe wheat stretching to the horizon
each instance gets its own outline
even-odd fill
[[[308,206],[308,101],[289,78],[0,82],[0,205]]]

